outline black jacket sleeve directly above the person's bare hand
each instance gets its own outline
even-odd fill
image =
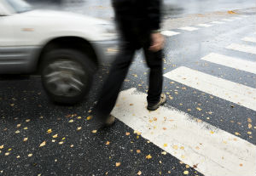
[[[159,30],[161,21],[161,0],[148,0],[148,22],[150,30]]]

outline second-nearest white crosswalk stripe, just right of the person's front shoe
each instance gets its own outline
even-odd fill
[[[213,77],[184,66],[178,67],[164,76],[207,94],[212,94],[256,111],[256,88]]]

